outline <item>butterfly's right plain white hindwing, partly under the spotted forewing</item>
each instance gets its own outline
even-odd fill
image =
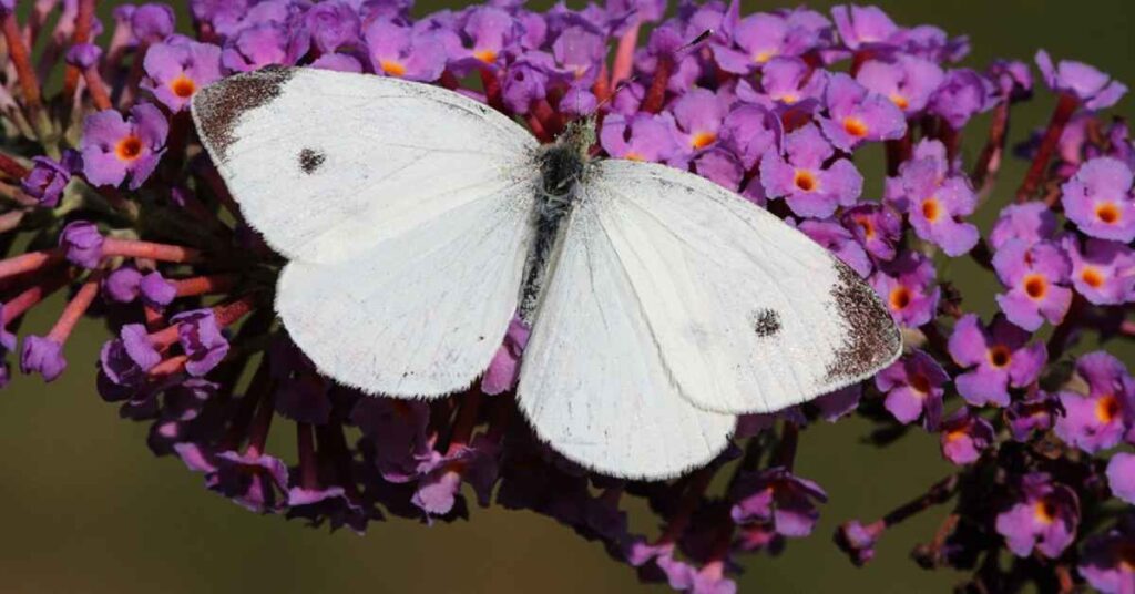
[[[578,200],[553,250],[519,405],[570,460],[628,478],[675,476],[721,452],[734,418],[679,393],[595,206]]]

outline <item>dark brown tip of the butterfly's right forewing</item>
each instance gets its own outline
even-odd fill
[[[835,261],[831,296],[843,320],[843,344],[827,363],[827,382],[847,382],[877,371],[902,346],[899,328],[878,295],[848,265]]]

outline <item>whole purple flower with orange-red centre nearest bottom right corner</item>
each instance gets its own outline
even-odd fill
[[[1028,557],[1034,547],[1049,559],[1060,557],[1079,526],[1076,492],[1043,472],[1025,475],[1020,491],[1017,502],[998,514],[997,532],[1017,557]]]

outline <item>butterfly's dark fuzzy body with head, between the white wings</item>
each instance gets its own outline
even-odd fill
[[[588,151],[592,144],[595,120],[586,118],[570,123],[555,143],[541,148],[537,153],[540,182],[532,221],[536,237],[528,254],[520,300],[521,318],[528,323],[532,321],[563,223],[578,198],[580,182],[588,175]]]

